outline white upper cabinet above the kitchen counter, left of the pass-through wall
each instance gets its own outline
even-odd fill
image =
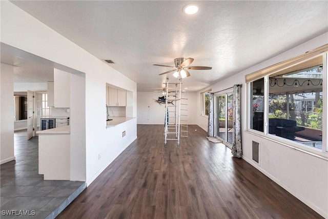
[[[71,101],[71,74],[54,69],[54,107],[69,108]]]

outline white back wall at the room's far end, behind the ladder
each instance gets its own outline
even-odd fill
[[[164,125],[165,104],[155,101],[163,96],[157,92],[138,92],[137,124]],[[185,95],[185,93],[183,93]],[[188,124],[196,124],[196,95],[197,92],[188,92]]]

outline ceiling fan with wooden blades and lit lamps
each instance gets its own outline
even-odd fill
[[[212,69],[212,67],[206,67],[206,66],[189,66],[193,61],[194,61],[193,58],[175,58],[174,59],[175,67],[167,66],[167,65],[156,65],[156,64],[154,64],[154,66],[163,66],[163,67],[174,68],[173,70],[163,72],[159,75],[174,72],[173,76],[179,77],[179,78],[184,78],[184,77],[190,76],[190,73],[187,69],[190,69],[190,70],[210,70],[210,69]]]

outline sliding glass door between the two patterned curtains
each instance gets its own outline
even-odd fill
[[[227,145],[232,145],[232,118],[233,118],[233,94],[229,93],[216,94],[215,101],[215,135]]]

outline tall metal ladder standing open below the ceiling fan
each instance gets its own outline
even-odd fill
[[[188,98],[181,98],[181,78],[179,83],[169,83],[169,78],[166,78],[166,101],[165,101],[165,146],[168,140],[177,141],[177,146],[180,144],[180,136],[188,136]],[[174,86],[174,91],[170,91],[170,87]],[[181,103],[183,102],[183,103]],[[181,111],[183,113],[181,114]],[[183,118],[182,124],[181,116]],[[182,126],[181,126],[182,125]],[[183,133],[183,134],[182,134]]]

